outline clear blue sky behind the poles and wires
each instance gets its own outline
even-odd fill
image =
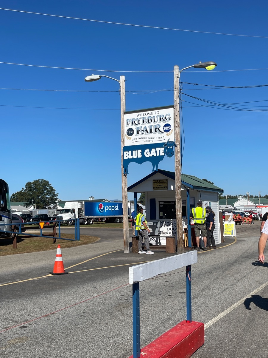
[[[121,198],[119,84],[108,78],[84,82],[85,76],[92,73],[116,79],[125,76],[126,91],[137,91],[126,92],[126,110],[172,104],[174,65],[184,68],[199,61],[218,64],[210,72],[185,70],[182,82],[227,87],[268,84],[268,38],[258,37],[268,37],[268,4],[264,1],[254,5],[250,1],[225,1],[201,6],[200,1],[169,0],[2,0],[0,7],[196,31],[0,10],[1,62],[90,69],[0,63],[0,118],[8,149],[3,151],[2,146],[6,170],[1,178],[9,183],[11,193],[26,182],[46,179],[62,200],[91,195]],[[256,70],[241,71],[245,69]],[[184,83],[182,93],[183,173],[207,178],[223,188],[224,194],[268,194],[264,179],[268,168],[261,159],[267,153],[267,112],[204,107],[208,103],[187,96],[217,103],[264,101],[244,103],[248,107],[243,108],[267,110],[267,87],[212,88]],[[3,156],[6,152],[8,158]],[[174,157],[165,158],[159,168],[173,171]],[[131,185],[150,174],[152,165],[131,163],[128,170]],[[130,193],[129,199],[132,198]]]

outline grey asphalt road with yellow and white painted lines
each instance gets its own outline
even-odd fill
[[[259,226],[237,226],[237,240],[201,251],[192,265],[192,318],[205,323],[194,358],[267,357],[268,264],[257,263]],[[68,275],[49,275],[54,251],[1,257],[1,357],[132,354],[129,266],[168,255],[124,254],[122,229],[81,230],[100,240],[64,249]],[[140,284],[141,347],[186,319],[185,290],[184,269]]]

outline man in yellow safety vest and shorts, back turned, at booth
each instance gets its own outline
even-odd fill
[[[200,232],[201,236],[203,237],[204,242],[204,251],[207,251],[207,228],[206,228],[206,209],[202,208],[202,201],[199,200],[197,203],[197,207],[192,209],[192,212],[190,213],[190,219],[194,220],[194,233],[195,233],[195,241],[197,243],[197,251],[200,251],[199,247],[199,237]]]

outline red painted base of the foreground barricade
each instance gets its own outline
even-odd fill
[[[205,341],[204,323],[182,321],[141,349],[141,358],[189,358]],[[133,355],[131,357],[133,358]]]

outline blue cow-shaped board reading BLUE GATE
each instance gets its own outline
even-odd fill
[[[128,165],[131,162],[142,164],[146,161],[150,161],[153,165],[152,171],[158,171],[158,165],[160,161],[164,159],[164,156],[167,155],[169,158],[171,158],[174,155],[174,149],[173,147],[177,147],[174,141],[168,140],[167,143],[154,143],[154,144],[142,144],[142,145],[129,145],[125,146],[123,148],[123,168],[124,168],[124,174],[128,174]],[[157,153],[157,149],[163,148],[161,155],[150,155],[145,156],[144,152],[149,150],[150,154]],[[153,151],[154,150],[154,151]],[[142,154],[140,158],[138,158],[138,151]],[[125,159],[125,152],[130,152],[132,157],[136,158],[126,158]]]

